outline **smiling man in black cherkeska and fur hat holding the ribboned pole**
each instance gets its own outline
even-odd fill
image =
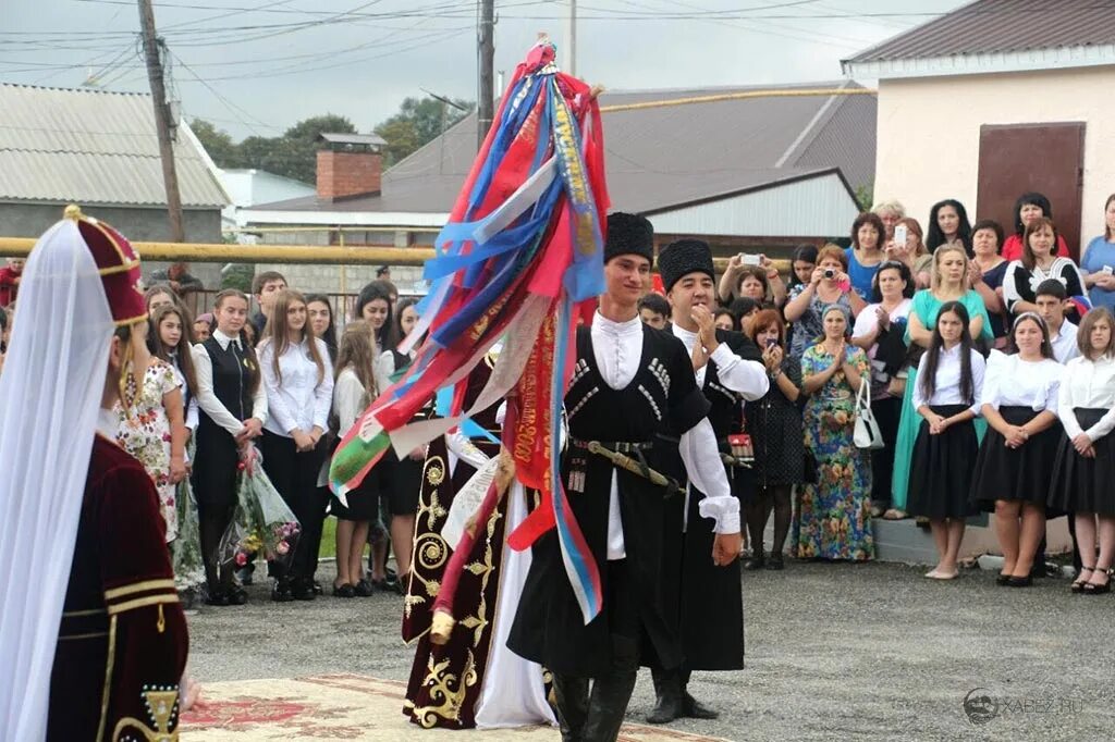
[[[660,601],[666,488],[589,450],[598,442],[657,468],[657,433],[679,436],[690,479],[706,492],[699,512],[715,519],[706,558],[739,555],[739,501],[733,497],[706,419],[709,403],[694,379],[685,345],[639,320],[650,272],[653,230],[630,214],[608,218],[605,293],[591,326],[576,334],[578,362],[565,394],[569,441],[562,480],[569,505],[600,572],[603,609],[589,624],[570,586],[554,531],[534,558],[507,645],[553,672],[565,742],[619,735],[646,638],[662,667],[682,657]],[[590,681],[592,682],[590,695]]]

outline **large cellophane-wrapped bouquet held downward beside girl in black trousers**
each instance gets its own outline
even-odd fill
[[[298,518],[268,479],[262,457],[249,445],[240,461],[236,508],[219,546],[222,563],[242,567],[263,553],[268,562],[287,564],[298,546]]]

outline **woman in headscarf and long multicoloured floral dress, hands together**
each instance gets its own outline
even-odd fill
[[[863,350],[847,342],[847,311],[830,304],[824,336],[802,355],[805,447],[816,461],[816,484],[802,487],[794,519],[794,551],[801,558],[863,562],[875,556],[871,533],[871,459],[853,442],[855,392],[867,379]]]

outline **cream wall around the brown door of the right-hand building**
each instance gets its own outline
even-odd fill
[[[980,126],[1085,121],[1087,244],[1103,233],[1104,201],[1115,192],[1112,90],[1115,67],[880,80],[875,201],[899,199],[925,228],[934,203],[957,198],[975,221]]]

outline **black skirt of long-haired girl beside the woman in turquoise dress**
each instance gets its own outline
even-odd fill
[[[950,418],[967,410],[968,406],[934,404],[929,409]],[[930,520],[972,515],[976,510],[968,501],[968,491],[978,448],[976,426],[971,420],[949,426],[937,436],[929,432],[929,421],[922,420],[910,463],[906,498],[910,515]]]

